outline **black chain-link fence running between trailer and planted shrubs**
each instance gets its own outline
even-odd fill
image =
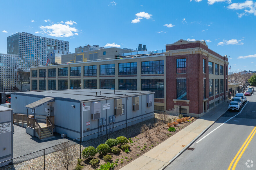
[[[60,153],[61,151],[73,153],[72,162],[76,162],[78,158],[81,158],[81,152],[85,147],[93,146],[96,148],[101,143],[105,143],[107,139],[115,139],[118,136],[133,138],[141,133],[140,129],[142,125],[153,125],[158,120],[167,121],[167,119],[172,118],[173,116],[179,116],[179,111],[180,106],[154,115],[145,116],[143,118],[134,118],[129,122],[115,125],[111,128],[100,130],[53,147],[48,147],[30,154],[6,160],[0,162],[0,170],[56,169],[58,167],[62,167],[59,157],[60,154],[63,154]],[[153,128],[153,126],[151,127]],[[142,135],[140,137],[144,137],[143,134],[140,135]]]

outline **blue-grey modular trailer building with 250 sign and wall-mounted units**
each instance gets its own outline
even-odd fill
[[[46,97],[52,100],[40,103],[35,110],[25,107]],[[15,92],[11,93],[11,103],[13,113],[35,113],[37,121],[46,122],[46,117],[54,116],[54,132],[66,133],[73,139],[142,117],[154,117],[154,92],[148,91],[68,89]]]

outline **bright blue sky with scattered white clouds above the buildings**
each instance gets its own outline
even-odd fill
[[[149,51],[179,39],[205,40],[230,56],[229,71],[256,71],[256,1],[0,1],[0,53],[7,36],[28,32],[69,41]]]

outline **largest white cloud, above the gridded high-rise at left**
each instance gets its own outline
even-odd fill
[[[57,23],[57,24],[52,24],[48,26],[40,26],[40,29],[43,30],[42,33],[45,33],[50,36],[55,36],[55,37],[70,37],[73,35],[78,35],[74,34],[73,32],[79,32],[78,29],[75,27],[70,27],[70,25],[76,24],[74,21],[66,21],[65,24]]]

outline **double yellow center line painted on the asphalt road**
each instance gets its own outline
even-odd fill
[[[244,142],[244,144],[242,145],[242,147],[239,149],[239,151],[237,152],[236,156],[234,157],[234,159],[232,160],[232,162],[230,163],[228,170],[231,169],[233,163],[233,167],[232,170],[234,170],[237,166],[238,161],[240,160],[241,156],[244,154],[245,149],[247,148],[247,146],[249,145],[249,143],[251,142],[251,140],[253,139],[253,136],[255,135],[256,132],[256,126],[253,128],[253,131],[249,134],[249,136],[247,137],[246,141]]]

